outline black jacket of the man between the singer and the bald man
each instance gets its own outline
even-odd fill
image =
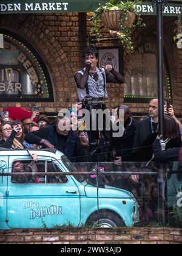
[[[133,118],[131,125],[127,126],[123,137],[113,137],[112,139],[113,148],[116,149],[116,157],[122,157],[123,161],[129,161],[129,156],[132,154],[137,126],[138,121]]]

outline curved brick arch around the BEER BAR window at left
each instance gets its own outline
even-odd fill
[[[42,103],[41,107],[46,108],[49,105],[49,108],[55,108],[58,111],[59,107],[70,107],[72,102],[76,102],[77,94],[71,90],[75,87],[73,71],[66,52],[49,27],[39,20],[39,17],[36,15],[4,15],[0,21],[0,27],[29,41],[49,69],[56,103]],[[53,109],[47,112],[53,112]]]

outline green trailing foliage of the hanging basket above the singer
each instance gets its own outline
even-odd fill
[[[141,0],[126,2],[110,0],[107,1],[104,6],[99,4],[98,9],[96,9],[95,14],[92,17],[92,29],[90,30],[90,35],[95,37],[98,42],[101,41],[101,14],[110,10],[118,10],[121,13],[121,20],[119,21],[120,30],[117,35],[127,52],[133,52],[132,31],[136,26],[145,26],[141,20],[140,10],[136,8],[136,4],[141,4]],[[135,13],[136,19],[136,22],[129,28],[126,27],[126,21],[128,18],[127,12]]]

